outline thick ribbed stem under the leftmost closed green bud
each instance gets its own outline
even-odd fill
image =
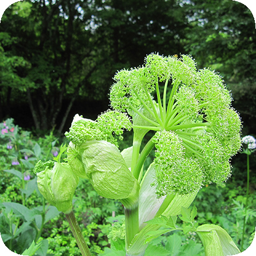
[[[80,230],[79,224],[76,221],[75,214],[73,211],[69,212],[69,214],[65,214],[69,226],[71,227],[73,236],[75,236],[77,245],[82,253],[83,256],[91,256],[91,253],[88,249],[88,246],[86,244],[86,241],[84,241],[82,231]]]

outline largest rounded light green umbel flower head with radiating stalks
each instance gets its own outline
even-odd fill
[[[151,142],[158,197],[230,177],[230,158],[241,148],[241,119],[218,73],[197,70],[190,56],[151,54],[145,65],[119,71],[114,80],[114,110],[131,115],[134,134],[156,131]]]

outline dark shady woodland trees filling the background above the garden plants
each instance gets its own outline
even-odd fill
[[[115,72],[137,67],[151,52],[188,53],[199,68],[219,71],[232,90],[244,133],[253,134],[255,23],[246,6],[231,0],[11,5],[0,24],[0,118],[60,133],[77,112],[94,119],[108,108]]]

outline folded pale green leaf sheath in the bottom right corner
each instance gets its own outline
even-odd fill
[[[205,251],[205,256],[227,256],[240,253],[228,233],[215,224],[204,224],[196,229]]]

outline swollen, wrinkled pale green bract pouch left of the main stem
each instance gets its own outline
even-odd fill
[[[88,141],[83,146],[82,161],[88,179],[100,196],[137,200],[139,183],[115,145]]]

